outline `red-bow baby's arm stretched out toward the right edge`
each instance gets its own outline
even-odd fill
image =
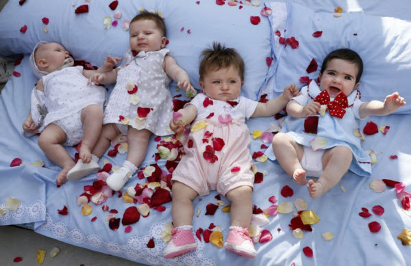
[[[382,101],[369,101],[360,105],[360,118],[367,116],[386,116],[392,114],[399,107],[406,105],[404,98],[399,96],[398,92],[394,92],[386,96],[384,103]]]

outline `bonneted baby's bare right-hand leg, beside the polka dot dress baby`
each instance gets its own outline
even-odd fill
[[[83,163],[90,163],[91,150],[97,143],[103,126],[103,109],[99,105],[88,105],[82,109],[81,118],[84,133],[79,159],[82,159]]]

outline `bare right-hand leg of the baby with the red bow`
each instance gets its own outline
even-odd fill
[[[349,170],[353,159],[353,153],[347,146],[336,146],[325,150],[321,159],[324,172],[319,181],[308,181],[308,192],[311,198],[319,198],[329,189],[340,182],[343,175]]]

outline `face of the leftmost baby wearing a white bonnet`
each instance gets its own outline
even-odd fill
[[[71,57],[62,44],[49,42],[38,47],[34,55],[39,70],[53,72],[64,64],[66,58]]]

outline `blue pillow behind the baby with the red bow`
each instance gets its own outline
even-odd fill
[[[268,7],[278,4],[266,2]],[[411,22],[358,13],[342,13],[338,17],[296,3],[286,5],[285,25],[277,22],[278,16],[284,15],[284,12],[277,14],[278,9],[273,8],[270,18],[275,63],[269,70],[271,78],[267,84],[274,92],[282,92],[290,83],[306,85],[299,82],[300,77],[316,79],[325,56],[346,47],[356,51],[364,62],[359,87],[362,101],[384,101],[393,92],[411,101]],[[280,44],[277,30],[283,38],[295,37],[299,42],[297,49]],[[315,31],[322,31],[322,35],[314,37]],[[312,59],[318,68],[308,73],[306,69]],[[410,114],[411,105],[399,108],[396,113]]]

